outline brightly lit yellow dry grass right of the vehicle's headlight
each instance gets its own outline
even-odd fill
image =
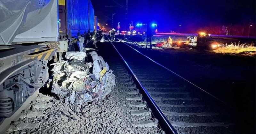
[[[221,44],[220,48],[217,48],[213,50],[215,53],[222,53],[222,54],[239,54],[239,55],[245,55],[245,56],[255,56],[256,55],[256,47],[253,46],[253,44],[238,44],[236,45],[231,44]]]

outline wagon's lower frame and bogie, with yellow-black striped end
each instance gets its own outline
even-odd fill
[[[49,79],[47,63],[58,61],[68,41],[11,45],[0,52],[0,118],[8,118]],[[1,48],[1,47],[0,47]]]

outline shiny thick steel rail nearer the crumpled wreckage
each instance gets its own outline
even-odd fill
[[[107,36],[108,38],[108,36]],[[109,40],[109,38],[108,38]],[[109,40],[110,41],[110,40]],[[142,92],[141,94],[143,95],[144,100],[146,100],[148,107],[152,110],[152,114],[155,116],[156,119],[158,119],[159,126],[161,127],[162,130],[165,131],[167,134],[178,134],[177,131],[174,129],[172,124],[168,121],[162,110],[157,106],[156,102],[153,100],[153,98],[150,96],[148,91],[145,89],[145,87],[140,83],[139,79],[137,76],[133,73],[132,69],[128,65],[128,63],[124,60],[123,56],[119,53],[119,51],[116,49],[114,44],[110,41],[118,55],[121,57],[129,71],[132,73],[132,76],[136,79],[136,82],[140,85]]]

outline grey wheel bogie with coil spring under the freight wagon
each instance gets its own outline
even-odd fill
[[[10,117],[28,96],[48,80],[48,61],[35,60],[13,73],[0,85],[0,116]]]

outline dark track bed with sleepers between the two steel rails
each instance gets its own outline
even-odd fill
[[[152,62],[125,42],[112,44],[177,133],[239,133],[236,118],[216,98]]]

